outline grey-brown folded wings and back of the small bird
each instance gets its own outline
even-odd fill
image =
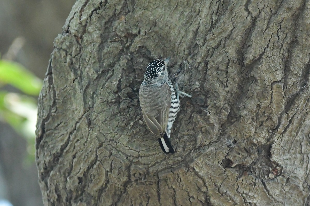
[[[149,130],[158,138],[163,137],[171,105],[171,91],[168,84],[159,87],[141,85],[139,99],[142,114]]]

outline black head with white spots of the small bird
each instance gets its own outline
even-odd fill
[[[144,79],[148,83],[153,83],[154,81],[165,80],[168,77],[168,72],[166,69],[167,61],[161,59],[155,59],[151,61],[146,67],[144,73]]]

